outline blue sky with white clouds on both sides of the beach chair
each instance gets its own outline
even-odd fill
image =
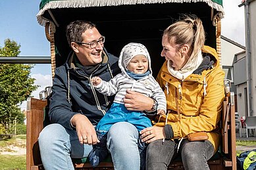
[[[221,34],[245,46],[244,7],[242,0],[223,0],[224,18]],[[21,45],[20,56],[50,56],[50,44],[45,37],[44,27],[39,25],[36,14],[40,0],[0,0],[0,47],[9,38]],[[32,93],[38,98],[39,91],[52,84],[50,64],[36,64],[31,77],[40,87]],[[20,108],[26,110],[26,102]]]

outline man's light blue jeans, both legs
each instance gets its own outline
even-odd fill
[[[115,169],[140,169],[138,137],[138,130],[131,123],[118,122],[109,129],[107,148]],[[71,158],[88,157],[92,150],[91,145],[80,144],[76,131],[65,129],[57,123],[47,125],[38,141],[46,170],[74,169]]]

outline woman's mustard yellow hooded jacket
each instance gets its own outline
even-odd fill
[[[220,68],[215,49],[204,46],[203,56],[215,58],[213,68],[204,70],[201,75],[191,74],[184,81],[169,74],[165,62],[157,75],[157,81],[165,92],[168,124],[172,126],[174,138],[186,137],[190,133],[206,131],[209,140],[217,151],[220,143],[220,116],[224,100],[224,72]],[[176,113],[176,100],[180,119]],[[165,125],[166,116],[161,117],[158,126]]]

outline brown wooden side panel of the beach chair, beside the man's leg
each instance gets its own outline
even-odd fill
[[[43,129],[43,109],[47,100],[28,98],[27,100],[27,133],[26,133],[26,167],[41,164],[38,137]]]

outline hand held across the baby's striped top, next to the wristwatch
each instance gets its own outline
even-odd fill
[[[153,99],[136,91],[127,90],[124,96],[124,106],[127,110],[150,111],[153,106]]]

